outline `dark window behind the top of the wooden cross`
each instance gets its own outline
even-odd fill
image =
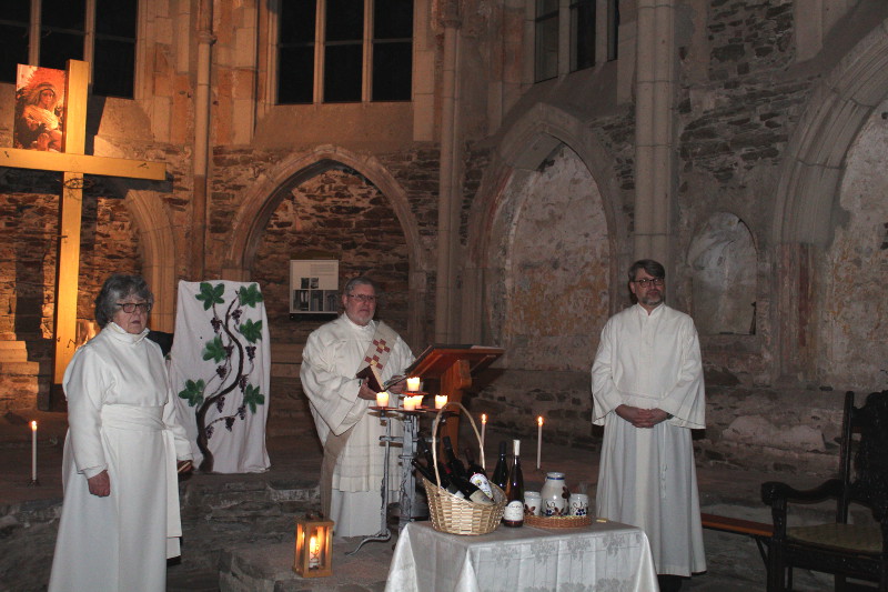
[[[6,4],[0,13],[0,82],[16,81],[17,63],[64,70],[68,60],[85,60],[92,67],[94,94],[133,98],[139,0]]]

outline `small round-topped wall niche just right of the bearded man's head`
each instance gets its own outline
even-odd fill
[[[709,217],[688,249],[694,321],[702,334],[754,334],[756,247],[743,220]]]

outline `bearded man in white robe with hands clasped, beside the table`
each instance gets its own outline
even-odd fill
[[[694,321],[664,303],[666,271],[629,269],[637,303],[612,317],[592,367],[593,423],[604,425],[597,515],[650,541],[660,588],[706,570],[692,429],[705,428]]]

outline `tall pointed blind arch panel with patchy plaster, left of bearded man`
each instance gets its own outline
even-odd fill
[[[558,144],[512,177],[492,228],[491,325],[506,364],[587,371],[608,314],[609,243],[595,179]]]

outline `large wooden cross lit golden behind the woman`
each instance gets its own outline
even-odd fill
[[[64,140],[62,152],[0,148],[0,167],[38,169],[62,173],[59,223],[59,258],[56,269],[56,318],[51,397],[61,393],[62,377],[77,349],[77,292],[80,271],[80,225],[83,174],[152,179],[162,181],[167,165],[144,160],[90,157],[83,153],[87,138],[87,96],[90,66],[68,60],[64,83]]]

